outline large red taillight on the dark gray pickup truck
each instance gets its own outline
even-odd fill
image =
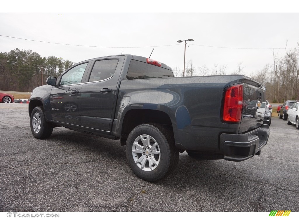
[[[240,122],[243,108],[243,85],[234,85],[225,89],[223,121]]]

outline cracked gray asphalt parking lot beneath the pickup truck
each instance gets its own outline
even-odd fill
[[[299,211],[299,130],[273,112],[260,156],[180,154],[167,179],[136,177],[119,141],[54,128],[33,138],[27,104],[0,104],[0,211]],[[200,147],[200,145],[199,145]]]

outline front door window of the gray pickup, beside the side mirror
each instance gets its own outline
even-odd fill
[[[82,82],[82,77],[88,63],[77,65],[61,77],[60,85],[72,85]]]

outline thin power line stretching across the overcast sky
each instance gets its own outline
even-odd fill
[[[48,41],[40,41],[40,40],[30,40],[25,38],[13,37],[13,36],[5,36],[9,38],[15,38],[20,40],[28,40],[28,41],[35,41],[35,42],[42,42],[42,43],[49,43],[49,44],[60,44],[60,45],[70,45],[70,46],[79,46],[79,47],[102,47],[102,48],[144,48],[144,47],[103,47],[103,46],[91,46],[91,45],[77,45],[77,44],[62,44],[62,43],[55,43],[55,42],[48,42]],[[146,46],[146,47],[167,47],[167,46],[175,46],[181,44],[172,44],[172,45],[159,45],[159,46]],[[198,44],[190,44],[194,46],[200,47],[215,47],[215,48],[226,48],[226,49],[244,49],[244,50],[273,50],[273,49],[296,49],[299,47],[272,47],[272,48],[249,48],[249,47],[218,47],[218,46],[209,46],[209,45],[198,45]]]

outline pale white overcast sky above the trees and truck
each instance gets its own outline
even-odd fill
[[[283,56],[286,50],[292,50],[285,47],[298,47],[299,42],[299,13],[95,13],[94,8],[93,13],[69,11],[0,13],[0,52],[26,49],[43,57],[57,56],[77,63],[121,53],[149,57],[155,48],[152,59],[182,70],[184,43],[177,40],[194,39],[187,42],[186,63],[192,60],[197,71],[205,65],[211,73],[218,64],[227,66],[229,74],[242,62],[244,72],[250,75],[271,64],[273,52]]]

